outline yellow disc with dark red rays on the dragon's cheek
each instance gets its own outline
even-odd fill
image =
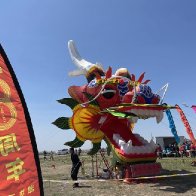
[[[97,116],[99,112],[99,107],[93,105],[88,105],[87,107],[77,105],[74,108],[71,127],[80,140],[91,140],[94,143],[98,143],[103,139],[103,132],[93,127],[93,124],[96,123],[93,117]]]

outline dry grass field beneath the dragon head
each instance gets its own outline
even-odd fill
[[[70,178],[70,155],[55,156],[54,161],[44,161],[43,157],[40,157],[46,196],[196,195],[196,175],[151,179],[127,184],[114,179],[98,179],[96,169],[94,169],[94,177],[92,177],[92,158],[82,154],[80,159],[84,161],[85,174],[82,174],[81,170],[79,171],[81,187],[73,189],[73,182]],[[110,157],[107,157],[107,160],[110,160]],[[196,161],[196,159],[194,160]],[[191,166],[193,161],[191,158],[164,158],[158,161],[163,167],[162,174],[196,173],[196,167]],[[94,167],[95,165],[94,162]],[[99,174],[105,168],[100,156],[97,157],[97,167]]]

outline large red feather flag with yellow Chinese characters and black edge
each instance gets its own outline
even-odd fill
[[[0,196],[40,196],[43,182],[28,109],[0,45]]]

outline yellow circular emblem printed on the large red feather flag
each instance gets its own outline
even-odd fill
[[[10,87],[4,80],[0,80],[0,96],[0,131],[4,131],[15,124],[17,117],[16,108],[10,100]]]

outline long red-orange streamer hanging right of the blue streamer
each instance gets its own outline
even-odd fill
[[[176,109],[177,109],[178,113],[180,114],[181,120],[184,123],[184,126],[186,128],[186,132],[189,135],[190,140],[193,142],[193,144],[196,145],[196,140],[195,140],[194,134],[192,132],[191,126],[190,126],[184,112],[182,111],[182,109],[180,108],[179,105],[176,105]]]

